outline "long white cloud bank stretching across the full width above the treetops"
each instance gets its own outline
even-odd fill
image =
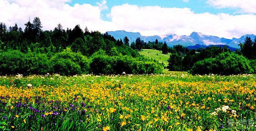
[[[24,24],[31,18],[41,19],[43,30],[53,30],[57,24],[64,29],[80,24],[91,31],[139,31],[142,35],[175,33],[189,35],[192,31],[218,37],[241,37],[256,34],[256,15],[196,14],[189,8],[162,8],[160,6],[118,5],[108,15],[112,21],[101,19],[101,10],[107,1],[98,6],[66,4],[69,0],[0,0],[0,22],[7,26]],[[4,12],[4,13],[3,13]]]

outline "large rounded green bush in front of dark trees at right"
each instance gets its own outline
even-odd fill
[[[250,62],[243,56],[235,53],[224,52],[216,58],[206,58],[194,64],[192,74],[243,74],[252,73]]]

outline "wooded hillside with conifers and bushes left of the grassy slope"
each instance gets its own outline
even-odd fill
[[[161,64],[140,56],[127,37],[116,40],[79,25],[64,30],[58,24],[53,31],[43,31],[38,17],[25,26],[7,29],[0,23],[0,75],[162,72]]]

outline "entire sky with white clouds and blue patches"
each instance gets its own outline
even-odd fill
[[[225,38],[256,34],[256,0],[0,0],[0,22],[22,29],[39,17],[43,30],[59,23],[89,31],[125,30],[143,36],[190,35]]]

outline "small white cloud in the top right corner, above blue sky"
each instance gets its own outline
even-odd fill
[[[217,8],[238,9],[241,13],[256,13],[256,0],[207,0],[207,3]]]

